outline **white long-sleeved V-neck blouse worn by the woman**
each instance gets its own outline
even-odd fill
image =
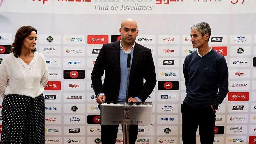
[[[13,53],[7,54],[0,64],[0,95],[17,94],[38,97],[48,81],[48,68],[43,54],[34,52],[27,65]]]

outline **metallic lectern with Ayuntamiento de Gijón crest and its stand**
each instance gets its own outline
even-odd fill
[[[123,144],[129,144],[129,125],[152,125],[152,102],[103,102],[101,125],[124,125]]]

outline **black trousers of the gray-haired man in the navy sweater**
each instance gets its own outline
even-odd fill
[[[214,141],[215,111],[211,106],[193,108],[183,102],[182,105],[182,141],[183,144],[195,144],[196,131],[199,127],[201,144]]]

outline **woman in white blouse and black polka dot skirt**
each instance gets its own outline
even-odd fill
[[[0,65],[1,144],[45,143],[42,92],[48,81],[48,69],[43,54],[36,52],[36,34],[32,26],[19,28],[10,54]]]

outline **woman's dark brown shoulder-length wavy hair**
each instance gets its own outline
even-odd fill
[[[37,33],[37,30],[32,26],[22,26],[18,29],[15,35],[14,42],[11,45],[10,53],[12,52],[14,56],[17,58],[21,54],[21,47],[23,44],[24,39],[31,34],[32,31]],[[33,49],[31,51],[36,51],[37,49]]]

